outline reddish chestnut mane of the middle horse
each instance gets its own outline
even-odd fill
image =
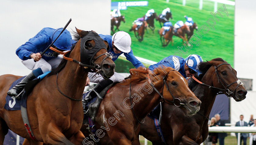
[[[148,68],[145,70],[143,67],[138,67],[137,69],[142,71],[148,71]],[[172,70],[174,70],[172,67],[157,67],[154,69],[154,75],[161,74],[162,76],[164,76],[168,74],[169,71],[172,71]],[[147,78],[147,74],[145,73],[138,72],[138,71],[131,71],[131,78],[123,80],[120,83],[120,85],[129,85],[131,82],[138,82],[146,78]]]

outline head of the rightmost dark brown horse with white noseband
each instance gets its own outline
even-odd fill
[[[216,58],[208,62],[206,65],[211,65],[208,71],[209,78],[212,80],[212,88],[216,91],[221,91],[228,97],[232,97],[236,102],[246,98],[247,91],[244,84],[236,77],[236,70],[230,64],[221,58]]]

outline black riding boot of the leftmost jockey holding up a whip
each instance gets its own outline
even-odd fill
[[[17,84],[16,86],[14,86],[12,89],[10,89],[7,94],[9,96],[18,96],[20,94],[20,92],[23,90],[24,86],[27,84],[28,81],[32,81],[35,77],[35,75],[33,74],[33,71],[30,72],[30,74],[28,74],[25,78],[23,78],[23,80],[20,81],[19,84]]]

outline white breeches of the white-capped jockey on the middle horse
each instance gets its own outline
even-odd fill
[[[104,80],[104,78],[100,74],[97,74],[95,76],[94,75],[95,73],[88,73],[88,78],[90,79],[90,82],[99,83],[100,81]],[[120,82],[124,80],[124,76],[115,72],[114,75],[112,75],[112,77],[110,77],[109,79],[113,82]]]

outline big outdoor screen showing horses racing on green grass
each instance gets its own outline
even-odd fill
[[[233,66],[235,2],[221,2],[112,0],[111,35],[129,33],[133,54],[143,58],[146,67],[170,55],[186,58],[190,54],[204,61],[221,57]],[[134,68],[125,57],[115,63],[117,72]]]

